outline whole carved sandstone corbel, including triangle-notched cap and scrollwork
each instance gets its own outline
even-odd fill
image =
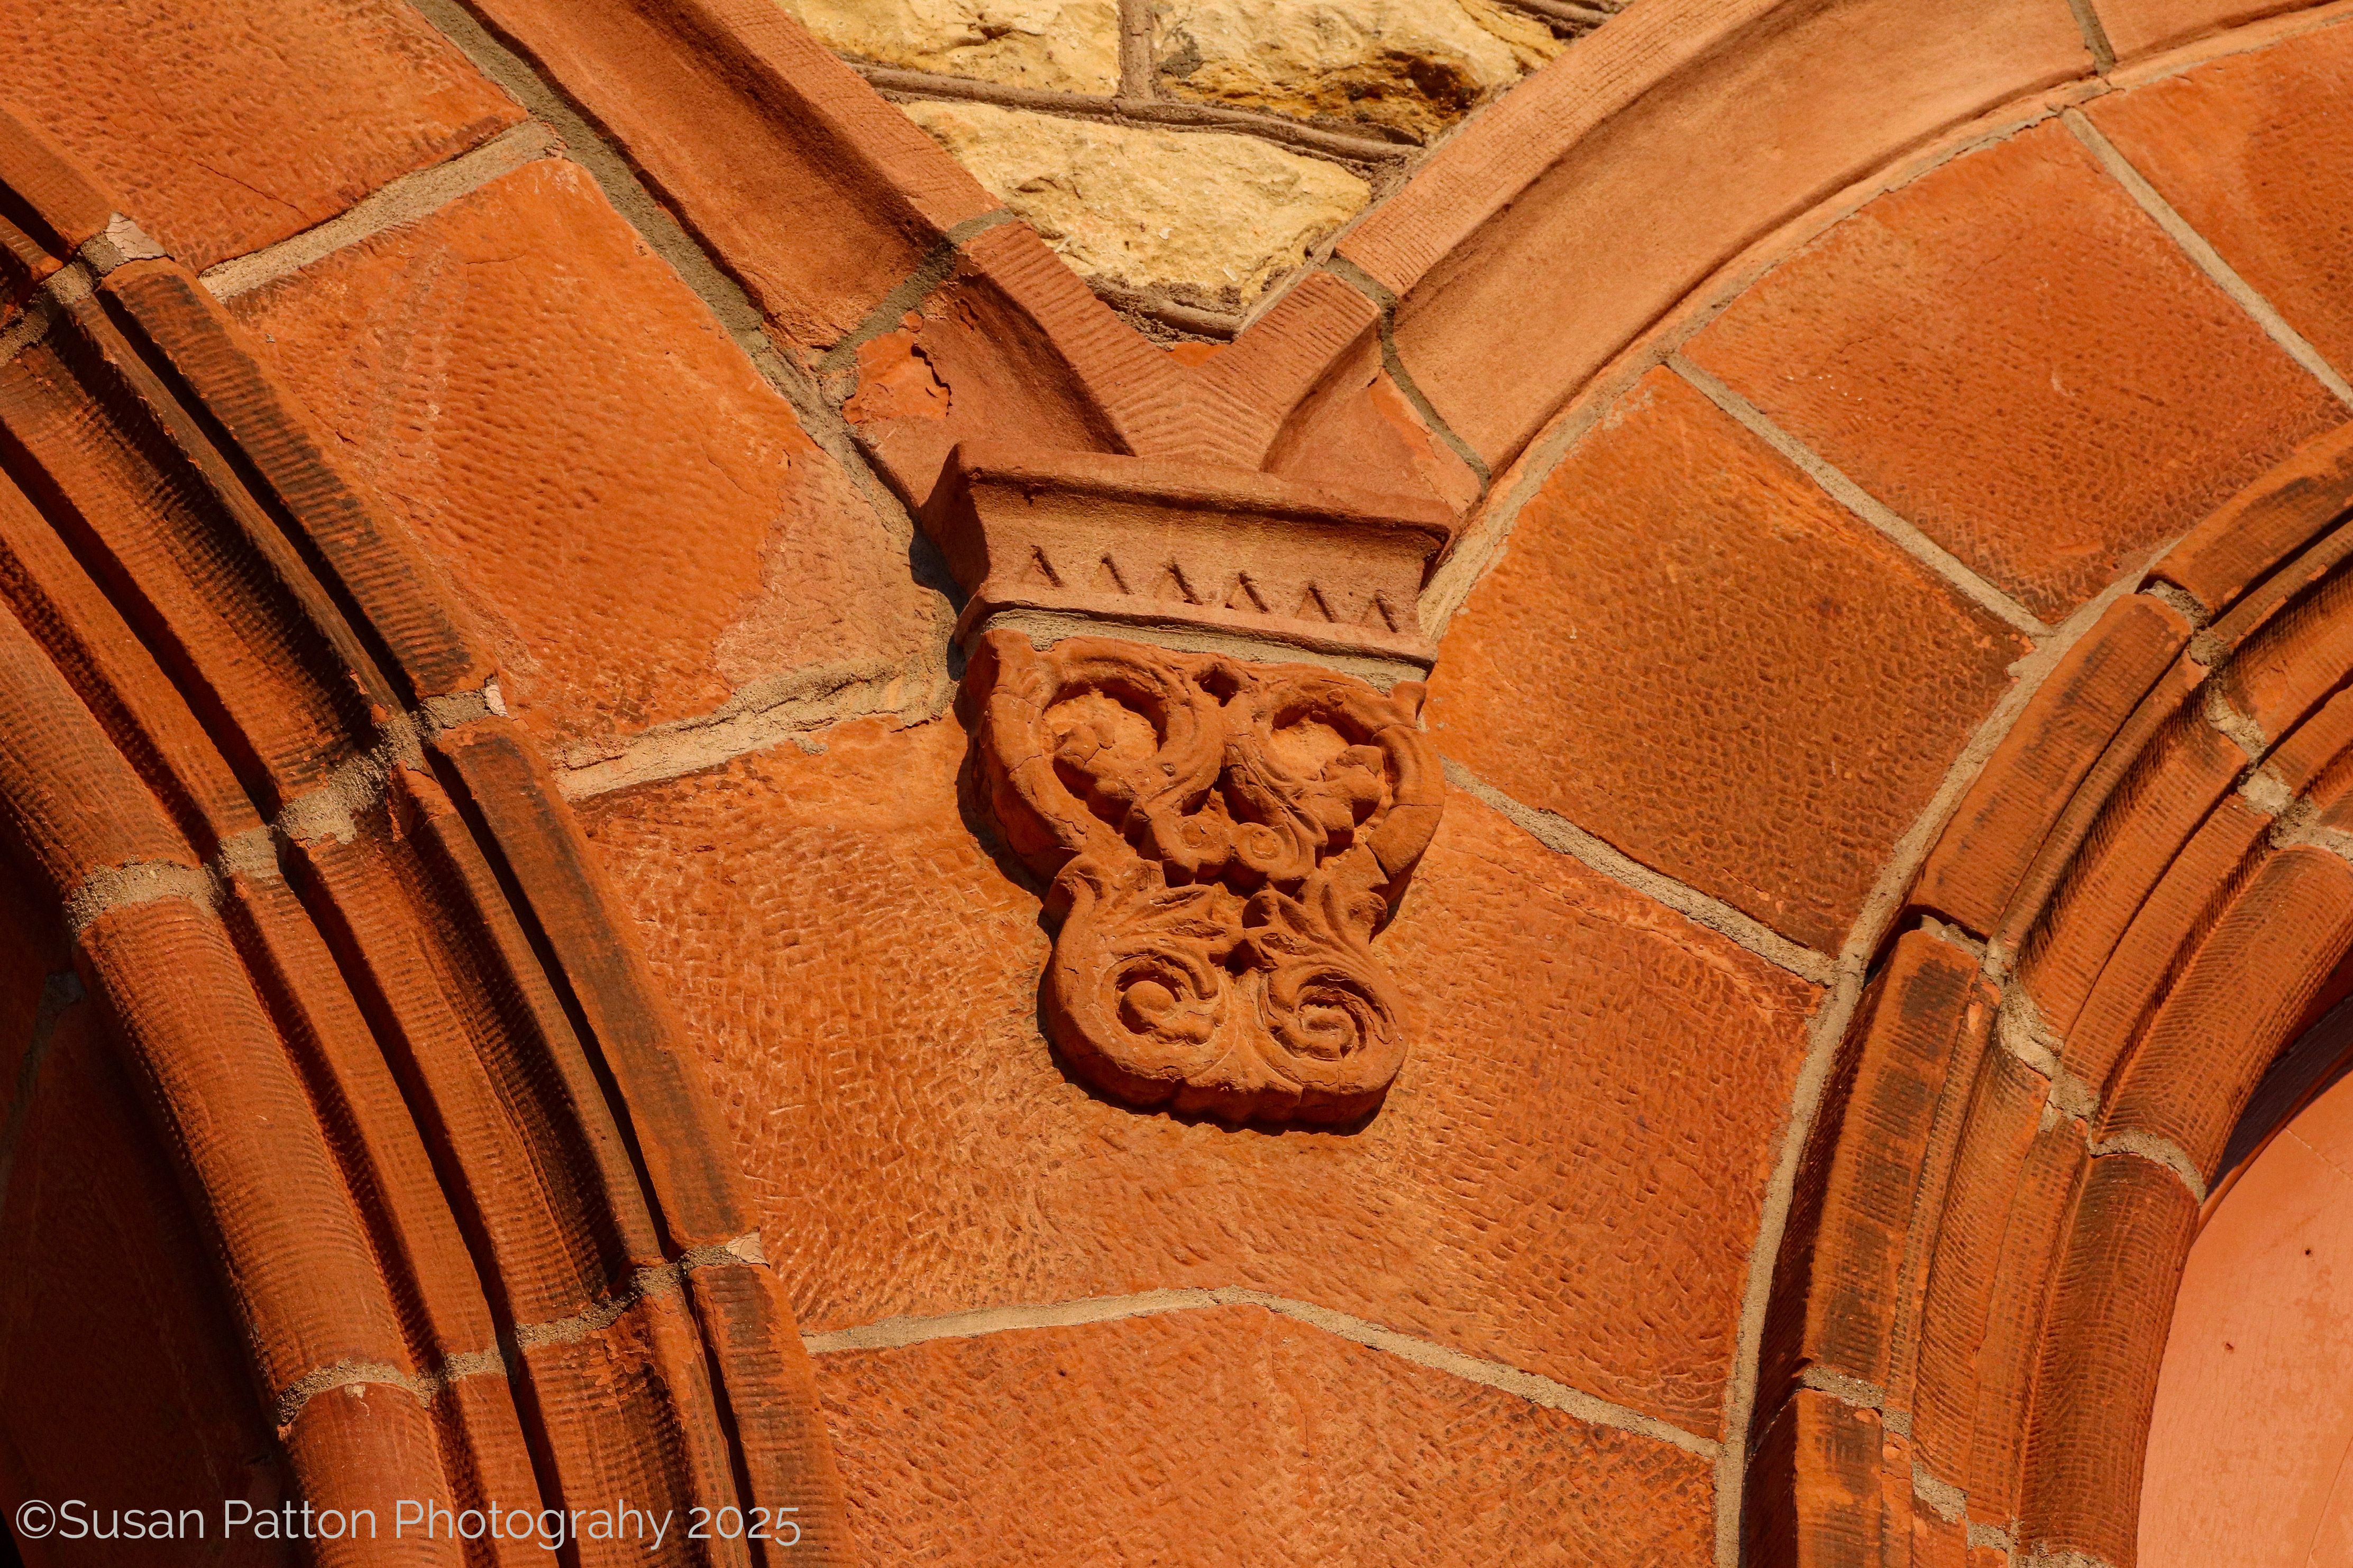
[[[1452,517],[962,447],[925,527],[969,595],[984,804],[1059,922],[1071,1067],[1226,1121],[1372,1112],[1407,1048],[1372,938],[1442,804],[1414,602]]]

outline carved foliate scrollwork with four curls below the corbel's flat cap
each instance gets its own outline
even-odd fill
[[[1438,830],[1421,689],[988,632],[988,809],[1061,922],[1045,1013],[1071,1065],[1139,1107],[1351,1121],[1405,1060],[1372,952]]]

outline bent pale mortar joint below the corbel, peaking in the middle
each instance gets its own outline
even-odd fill
[[[1518,1394],[1529,1403],[1548,1410],[1562,1410],[1565,1415],[1574,1415],[1577,1420],[1598,1427],[1617,1427],[1661,1443],[1673,1443],[1675,1448],[1694,1453],[1704,1460],[1713,1460],[1722,1450],[1722,1443],[1715,1439],[1685,1432],[1682,1427],[1664,1422],[1654,1415],[1628,1410],[1626,1406],[1609,1403],[1598,1394],[1586,1394],[1584,1389],[1574,1389],[1539,1373],[1527,1373],[1501,1361],[1480,1361],[1478,1356],[1468,1356],[1447,1345],[1417,1340],[1412,1335],[1381,1328],[1379,1324],[1367,1324],[1360,1316],[1348,1316],[1346,1312],[1315,1307],[1285,1295],[1268,1295],[1266,1291],[1247,1291],[1242,1286],[1141,1291],[1136,1295],[1092,1295],[1082,1300],[1021,1307],[976,1307],[972,1312],[946,1312],[939,1316],[894,1316],[878,1324],[864,1324],[859,1328],[805,1333],[800,1335],[800,1342],[812,1356],[828,1356],[847,1349],[899,1349],[929,1340],[969,1340],[1014,1328],[1075,1328],[1080,1324],[1108,1324],[1129,1316],[1158,1316],[1162,1312],[1200,1312],[1205,1307],[1264,1307],[1266,1312],[1322,1328],[1325,1333],[1353,1345],[1386,1352],[1402,1361],[1412,1361],[1414,1366],[1452,1373],[1464,1382],[1478,1382],[1489,1389]]]

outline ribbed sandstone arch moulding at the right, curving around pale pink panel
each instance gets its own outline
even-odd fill
[[[2200,524],[1922,870],[1781,1253],[1767,1561],[2134,1561],[2198,1206],[2353,945],[2348,508],[2339,430]]]

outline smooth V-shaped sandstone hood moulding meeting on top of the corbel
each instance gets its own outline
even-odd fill
[[[480,14],[616,136],[821,376],[920,346],[967,388],[948,421],[866,430],[913,503],[969,433],[1358,487],[1381,475],[1461,510],[1661,317],[1711,310],[1725,282],[1974,139],[2155,80],[2174,56],[2247,47],[2217,33],[2294,7],[2106,9],[2087,35],[2059,0],[1635,7],[1466,125],[1198,369],[1153,353],[760,0]],[[906,334],[915,308],[927,320]]]

